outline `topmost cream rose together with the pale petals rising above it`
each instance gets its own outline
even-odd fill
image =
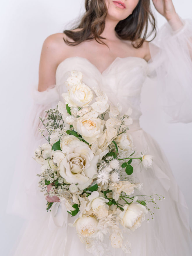
[[[65,82],[67,93],[62,93],[65,104],[70,107],[87,107],[93,99],[92,90],[82,82],[82,73],[73,70],[72,76]]]

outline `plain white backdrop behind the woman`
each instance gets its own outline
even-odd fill
[[[192,18],[191,0],[173,0],[182,18]],[[1,237],[2,255],[8,255],[23,219],[6,214],[6,202],[21,136],[22,121],[31,104],[29,90],[38,83],[42,43],[48,35],[70,28],[70,22],[84,11],[84,0],[1,1]],[[157,12],[156,12],[157,13]],[[165,18],[157,13],[158,27]],[[67,25],[68,24],[68,25]],[[161,145],[175,178],[191,206],[192,123],[167,124],[157,103],[157,88],[146,80],[142,95],[141,127]],[[4,175],[5,174],[5,175]],[[192,225],[191,225],[192,227]]]

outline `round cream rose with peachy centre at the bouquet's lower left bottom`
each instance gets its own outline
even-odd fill
[[[97,233],[98,221],[91,216],[82,216],[74,221],[77,233],[83,237],[92,237]]]

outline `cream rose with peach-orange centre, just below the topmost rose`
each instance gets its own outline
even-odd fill
[[[89,143],[92,144],[100,138],[103,134],[104,120],[97,118],[98,113],[91,111],[83,117],[77,118],[77,121],[73,123],[75,131]]]

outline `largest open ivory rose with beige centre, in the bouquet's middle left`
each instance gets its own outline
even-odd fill
[[[86,143],[73,140],[62,151],[54,152],[53,161],[67,183],[78,184],[79,189],[85,189],[97,175],[98,158]]]

